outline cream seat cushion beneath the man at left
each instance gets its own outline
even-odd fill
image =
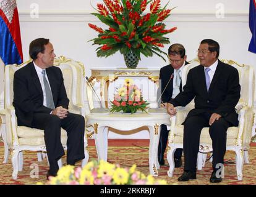
[[[18,126],[17,127],[18,137],[30,138],[30,137],[44,137],[43,130]],[[67,132],[64,129],[61,129],[61,136],[67,136]]]

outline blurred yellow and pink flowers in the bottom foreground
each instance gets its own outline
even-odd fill
[[[38,183],[40,184],[40,183]],[[50,177],[49,185],[166,185],[166,180],[155,180],[136,170],[134,164],[130,169],[106,161],[90,161],[83,168],[64,166],[56,177]]]

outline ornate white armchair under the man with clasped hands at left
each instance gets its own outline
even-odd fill
[[[29,61],[28,61],[29,62]],[[7,65],[4,75],[5,100],[6,100],[6,134],[7,144],[12,148],[12,166],[13,179],[17,179],[18,171],[22,171],[23,150],[30,151],[46,151],[44,132],[40,129],[32,129],[25,126],[17,126],[17,118],[15,109],[12,106],[13,100],[13,79],[16,70],[25,66],[28,62],[22,65]],[[64,85],[66,87],[67,97],[69,98],[69,111],[77,113],[85,117],[84,107],[84,90],[85,90],[85,71],[82,63],[75,62],[66,57],[55,58],[54,66],[59,66],[62,70]],[[67,134],[61,129],[61,142],[66,149]],[[85,136],[85,159],[82,165],[88,162],[87,137]],[[38,154],[40,161],[40,154]],[[59,164],[61,164],[59,162]]]

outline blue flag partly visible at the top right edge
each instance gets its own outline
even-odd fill
[[[248,50],[256,54],[256,0],[250,0],[249,26],[252,39]]]

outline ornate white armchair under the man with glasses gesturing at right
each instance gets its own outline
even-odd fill
[[[252,135],[252,125],[254,123],[254,68],[249,65],[239,65],[233,61],[222,61],[228,63],[231,66],[234,66],[239,72],[241,98],[239,99],[239,103],[236,105],[237,113],[239,113],[239,126],[228,128],[226,150],[232,150],[236,152],[237,179],[242,180],[242,167],[244,161],[245,163],[249,163],[248,150],[250,147],[250,139]],[[184,72],[182,73],[182,81],[186,81],[187,73],[189,70],[197,65],[199,65],[198,60],[192,60],[190,65],[184,67]],[[176,116],[171,118],[171,131],[169,132],[169,148],[167,154],[169,163],[169,177],[173,176],[174,171],[174,151],[176,148],[183,147],[182,123],[184,122],[187,113],[189,113],[191,108],[194,108],[194,100],[192,100],[192,102],[190,102],[186,107],[177,107]],[[200,135],[199,151],[200,153],[198,153],[197,168],[202,169],[202,166],[204,166],[205,159],[207,157],[206,153],[212,151],[211,138],[208,132],[208,127],[202,129]]]

